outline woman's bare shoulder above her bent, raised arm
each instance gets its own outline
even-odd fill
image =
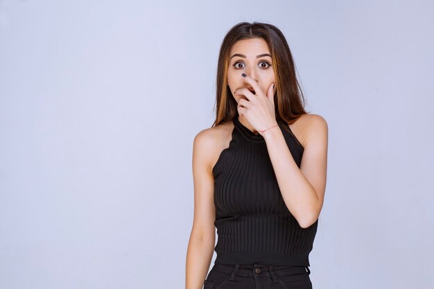
[[[309,139],[328,134],[327,121],[319,114],[303,114],[289,127],[304,147],[308,145]]]

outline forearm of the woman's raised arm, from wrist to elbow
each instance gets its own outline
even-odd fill
[[[318,211],[315,189],[295,163],[281,130],[273,128],[263,137],[286,207],[300,226],[309,227]]]

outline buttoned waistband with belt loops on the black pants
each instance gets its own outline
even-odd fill
[[[226,274],[231,274],[230,279],[235,280],[236,276],[243,277],[259,277],[271,276],[273,283],[278,282],[277,276],[295,275],[307,273],[311,274],[308,266],[279,266],[279,265],[265,265],[265,264],[234,264],[223,265],[214,264],[213,270],[217,270]]]

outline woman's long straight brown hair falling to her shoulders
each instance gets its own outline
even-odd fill
[[[238,40],[259,37],[267,42],[272,55],[272,67],[276,79],[274,96],[276,120],[291,124],[302,114],[307,113],[304,110],[304,95],[295,76],[293,55],[281,30],[271,24],[241,22],[229,30],[220,46],[216,83],[216,120],[211,126],[230,121],[238,114],[236,100],[227,85],[227,68],[232,46]],[[284,125],[284,128],[290,132],[288,125]]]

